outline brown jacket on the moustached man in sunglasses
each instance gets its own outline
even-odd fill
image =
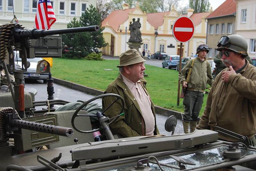
[[[229,68],[223,71],[229,71]],[[247,62],[241,72],[229,76],[229,82],[221,80],[222,72],[212,84],[196,128],[214,130],[218,126],[252,138],[256,134],[256,67]],[[237,141],[220,133],[219,137]]]

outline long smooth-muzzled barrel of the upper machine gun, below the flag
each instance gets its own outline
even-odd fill
[[[45,37],[47,35],[61,35],[68,33],[79,33],[79,32],[94,32],[99,31],[99,26],[88,26],[88,27],[76,27],[76,28],[65,28],[57,30],[38,30],[36,28],[30,30],[23,30],[20,28],[15,29],[15,38],[30,38],[38,39],[39,37]]]

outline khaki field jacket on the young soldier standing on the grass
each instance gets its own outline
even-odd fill
[[[210,86],[212,86],[213,83],[211,66],[206,58],[204,58],[204,61],[201,61],[198,57],[196,57],[195,59],[189,59],[180,71],[179,81],[181,84],[186,81],[189,68],[191,67],[193,60],[195,60],[195,63],[192,67],[192,73],[188,81],[188,90],[204,92],[207,83]]]

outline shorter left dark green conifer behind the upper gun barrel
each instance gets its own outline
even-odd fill
[[[73,18],[67,25],[68,28],[81,27],[80,22]],[[84,58],[93,47],[90,32],[71,33],[62,35],[62,54],[66,58]]]

